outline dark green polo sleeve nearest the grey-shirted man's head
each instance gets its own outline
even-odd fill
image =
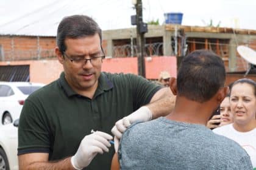
[[[163,87],[137,75],[129,74],[128,76],[132,84],[133,106],[135,109],[148,104],[154,94]]]

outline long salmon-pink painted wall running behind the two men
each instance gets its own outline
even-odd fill
[[[59,78],[63,71],[58,60],[0,61],[0,66],[29,65],[30,82],[51,83]],[[157,56],[145,58],[146,78],[157,79],[160,72],[166,70],[176,77],[177,65],[174,56]],[[112,73],[138,74],[137,58],[106,58],[102,63],[102,71]]]

